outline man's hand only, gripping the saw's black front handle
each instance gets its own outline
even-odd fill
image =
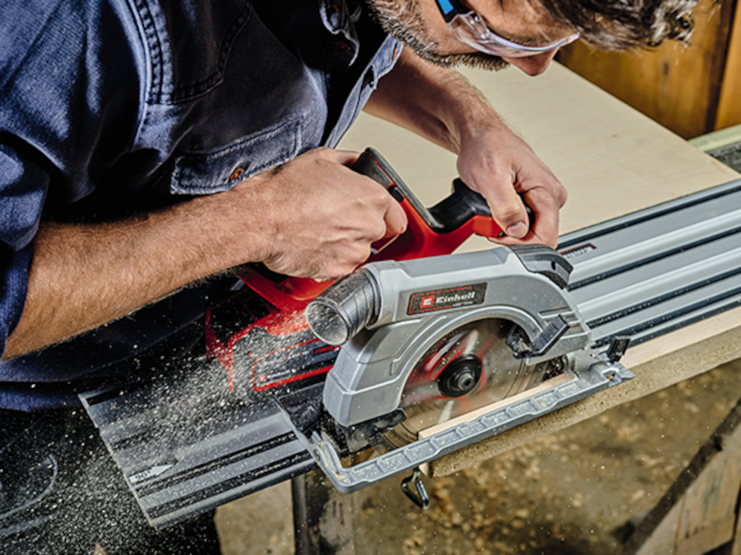
[[[566,189],[525,141],[498,121],[482,124],[462,139],[458,171],[488,201],[494,221],[508,235],[497,243],[555,248]],[[523,198],[535,213],[534,223],[528,221]]]

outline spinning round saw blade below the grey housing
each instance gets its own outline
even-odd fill
[[[514,323],[499,318],[476,320],[453,330],[428,349],[414,366],[402,393],[406,420],[387,432],[393,447],[416,441],[419,431],[511,397],[542,379],[544,365],[527,366],[506,344]],[[451,396],[451,371],[461,360],[480,361],[480,375],[468,391]],[[470,375],[467,374],[470,378]],[[471,382],[465,381],[467,386]]]

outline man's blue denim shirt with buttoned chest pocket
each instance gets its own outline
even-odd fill
[[[24,306],[41,221],[119,218],[336,146],[401,50],[359,13],[345,0],[4,1],[2,344]],[[56,383],[184,329],[205,295],[190,290],[1,362],[0,408],[69,402]],[[55,385],[44,394],[43,383]]]

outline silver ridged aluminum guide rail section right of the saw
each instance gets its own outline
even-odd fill
[[[598,345],[636,345],[741,304],[741,180],[564,235]]]

